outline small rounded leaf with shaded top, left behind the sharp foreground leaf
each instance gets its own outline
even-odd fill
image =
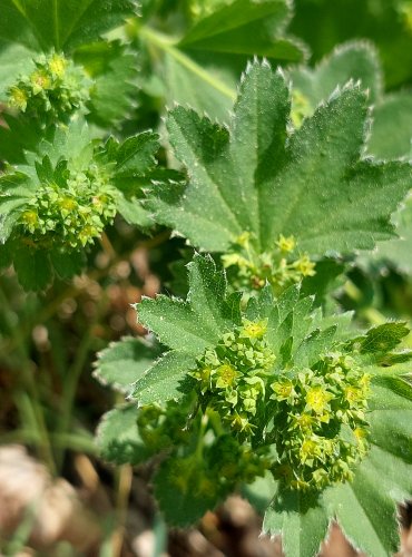
[[[159,356],[160,349],[143,339],[126,336],[97,354],[94,377],[120,392],[129,392]]]

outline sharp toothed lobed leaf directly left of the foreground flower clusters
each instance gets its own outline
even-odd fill
[[[166,353],[135,383],[140,404],[177,399],[192,384],[187,371],[195,358],[215,346],[222,334],[239,322],[239,297],[226,299],[224,272],[212,257],[195,255],[188,265],[190,291],[186,302],[164,295],[136,305],[138,320],[173,351]]]

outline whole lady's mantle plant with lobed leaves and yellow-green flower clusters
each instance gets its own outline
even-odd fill
[[[173,263],[134,304],[145,335],[98,354],[120,402],[99,457],[149,462],[173,527],[241,492],[286,556],[333,521],[396,551],[410,319],[345,296],[376,262],[409,272],[410,97],[385,96],[367,42],[305,66],[284,0],[46,4],[4,0],[0,21],[0,267],[41,302],[99,277],[121,231]]]

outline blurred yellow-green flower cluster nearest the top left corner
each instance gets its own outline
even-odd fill
[[[65,120],[89,99],[89,80],[84,70],[63,55],[41,55],[36,69],[8,90],[11,107],[29,116]]]

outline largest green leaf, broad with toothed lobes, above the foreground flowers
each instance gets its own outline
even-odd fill
[[[393,233],[406,163],[361,159],[366,105],[356,87],[335,92],[286,139],[288,89],[267,63],[251,66],[229,129],[177,107],[168,130],[189,184],[150,202],[158,221],[195,246],[227,251],[247,231],[258,253],[279,234],[310,255],[372,248]]]

